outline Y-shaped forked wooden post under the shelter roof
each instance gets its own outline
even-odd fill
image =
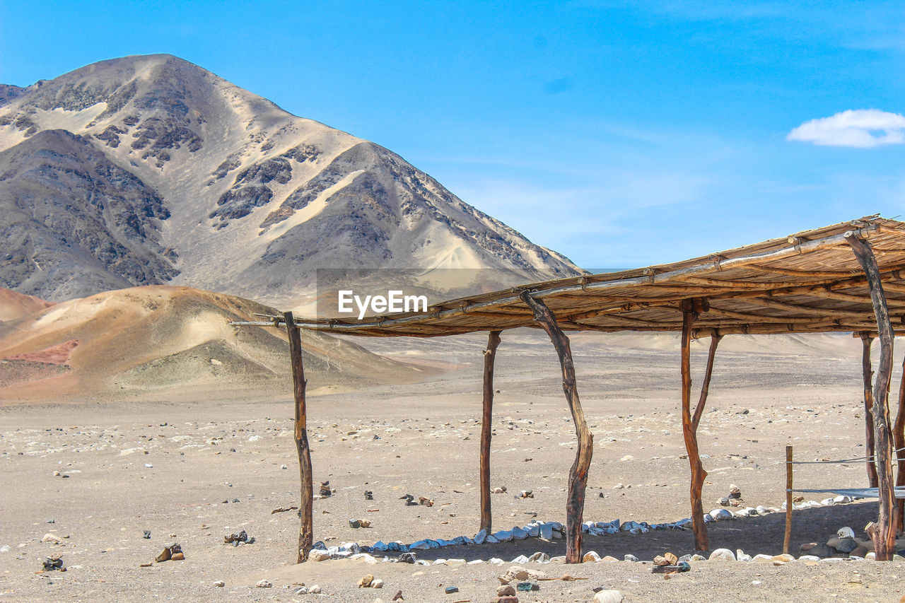
[[[694,532],[694,547],[697,550],[710,550],[710,539],[707,534],[707,525],[704,523],[704,507],[701,502],[701,492],[704,488],[704,480],[707,472],[700,463],[700,451],[698,450],[698,425],[700,417],[707,403],[707,394],[710,391],[710,377],[713,374],[713,359],[716,356],[717,346],[721,339],[714,335],[710,340],[710,352],[707,357],[707,370],[700,388],[698,406],[691,413],[691,325],[702,311],[708,311],[710,305],[707,300],[682,300],[682,330],[681,330],[681,427],[682,436],[685,439],[685,450],[688,452],[688,462],[691,465],[691,531]]]

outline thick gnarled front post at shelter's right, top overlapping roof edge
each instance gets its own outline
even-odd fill
[[[877,365],[877,377],[873,384],[873,435],[874,456],[877,464],[877,494],[880,498],[880,512],[875,530],[870,531],[873,549],[878,561],[892,559],[895,550],[895,522],[892,509],[895,506],[895,483],[892,481],[892,445],[890,438],[890,378],[892,373],[892,340],[893,331],[886,296],[881,284],[880,269],[869,244],[853,233],[845,235],[845,240],[852,246],[852,251],[861,263],[867,276],[867,286],[871,291],[873,313],[877,319],[877,333],[880,339],[880,361]]]

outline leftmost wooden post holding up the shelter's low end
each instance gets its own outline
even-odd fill
[[[284,312],[286,330],[289,333],[289,353],[292,366],[292,384],[295,394],[295,447],[299,452],[299,477],[301,492],[299,512],[299,546],[296,563],[308,560],[308,553],[314,543],[313,511],[314,489],[311,485],[311,453],[308,447],[308,416],[305,408],[305,368],[301,363],[301,336],[292,312]]]

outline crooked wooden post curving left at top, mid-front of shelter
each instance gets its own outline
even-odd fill
[[[566,562],[581,563],[581,522],[585,512],[585,488],[587,471],[591,467],[591,456],[594,454],[594,436],[587,429],[585,413],[581,409],[576,389],[575,365],[572,362],[572,349],[569,341],[557,323],[557,318],[547,304],[530,296],[529,292],[521,292],[523,302],[534,313],[534,321],[547,331],[553,347],[557,350],[559,364],[563,371],[563,391],[566,393],[569,410],[572,411],[572,422],[578,439],[578,450],[575,463],[568,473],[568,497],[566,501]]]

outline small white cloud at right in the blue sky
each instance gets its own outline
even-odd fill
[[[828,118],[805,121],[786,140],[828,147],[872,148],[905,142],[905,117],[878,109],[847,110]]]

